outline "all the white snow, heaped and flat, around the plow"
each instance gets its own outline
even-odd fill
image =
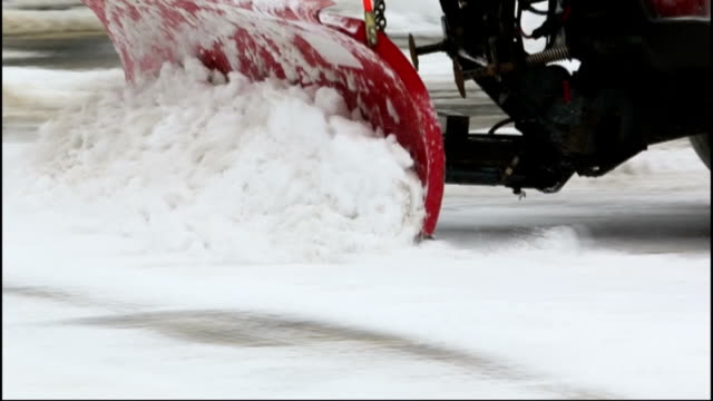
[[[388,6],[434,27],[437,1]],[[685,141],[527,202],[447,186],[416,244],[408,155],[338,94],[185,66],[3,67],[3,398],[710,398],[710,252],[448,235],[710,208]]]

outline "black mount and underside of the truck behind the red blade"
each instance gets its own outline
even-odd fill
[[[515,0],[440,1],[445,40],[411,43],[414,61],[446,51],[461,94],[475,80],[522,133],[471,134],[450,116],[448,183],[557,192],[575,173],[602,176],[651,144],[710,131],[710,19],[654,19],[643,0],[544,0],[548,48],[527,55]],[[579,71],[547,65],[563,56]]]

